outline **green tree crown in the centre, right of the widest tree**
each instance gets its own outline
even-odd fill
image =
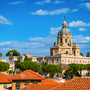
[[[44,67],[42,67],[43,73],[44,74],[48,74],[53,77],[55,75],[55,73],[62,73],[62,68],[59,67],[58,65],[54,65],[54,64],[48,64]]]

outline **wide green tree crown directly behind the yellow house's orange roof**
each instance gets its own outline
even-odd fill
[[[31,69],[35,72],[38,72],[41,69],[41,65],[39,63],[35,63],[32,61],[24,61],[24,62],[20,62],[19,64],[19,69],[21,71],[27,70],[27,69]]]

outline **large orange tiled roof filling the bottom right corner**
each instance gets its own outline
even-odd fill
[[[90,90],[90,78],[74,78],[50,90]]]

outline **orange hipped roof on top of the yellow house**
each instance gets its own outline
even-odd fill
[[[44,77],[33,72],[32,70],[25,70],[11,78],[11,80],[43,80]]]

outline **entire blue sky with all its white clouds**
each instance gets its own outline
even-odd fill
[[[0,52],[50,55],[64,16],[85,56],[90,52],[90,0],[1,0]]]

